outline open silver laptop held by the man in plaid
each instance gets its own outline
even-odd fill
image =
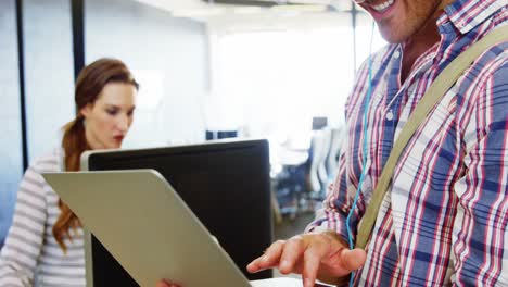
[[[251,285],[154,170],[42,176],[140,286],[155,286],[161,278],[185,283],[185,287],[302,286],[300,279]],[[87,286],[92,287],[90,236],[86,234]]]

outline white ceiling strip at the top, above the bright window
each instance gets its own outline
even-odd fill
[[[344,12],[351,9],[348,0],[279,0],[279,4],[272,7],[219,4],[212,0],[136,1],[169,11],[175,17],[205,23],[211,32],[218,33],[351,24],[351,15]]]

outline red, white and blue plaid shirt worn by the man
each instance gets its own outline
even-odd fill
[[[347,238],[350,212],[367,155],[353,230],[371,199],[394,140],[439,73],[462,50],[508,24],[508,0],[456,0],[437,21],[441,41],[401,83],[404,45],[373,57],[346,104],[339,174],[307,232]],[[367,125],[368,150],[363,149]],[[356,286],[508,286],[508,42],[485,51],[444,96],[395,169]]]

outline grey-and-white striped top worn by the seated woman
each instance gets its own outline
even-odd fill
[[[85,286],[82,229],[65,239],[64,254],[52,228],[61,211],[59,197],[40,175],[62,171],[55,151],[35,161],[20,185],[13,224],[0,253],[0,286]],[[73,232],[71,230],[73,234]]]

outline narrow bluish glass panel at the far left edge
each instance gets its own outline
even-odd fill
[[[0,1],[0,247],[23,173],[15,0]]]

